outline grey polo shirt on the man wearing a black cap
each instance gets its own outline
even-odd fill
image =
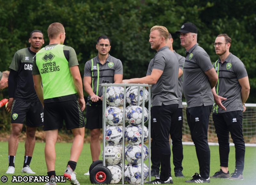
[[[210,82],[204,73],[213,68],[209,55],[203,48],[195,44],[186,51],[183,67],[183,94],[187,108],[213,105],[213,95]]]

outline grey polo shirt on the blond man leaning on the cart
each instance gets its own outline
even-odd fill
[[[155,57],[150,61],[147,75],[153,69],[163,71],[156,84],[152,85],[152,106],[178,104],[178,73],[179,62],[175,54],[168,46],[157,51]]]

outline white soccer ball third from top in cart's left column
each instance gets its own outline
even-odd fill
[[[117,145],[123,141],[123,131],[118,126],[110,126],[105,133],[106,143],[109,145]]]

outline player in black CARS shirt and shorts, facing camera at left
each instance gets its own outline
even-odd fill
[[[18,148],[19,136],[26,119],[26,141],[22,173],[35,173],[29,165],[36,142],[36,128],[43,125],[43,107],[40,103],[32,78],[33,57],[44,44],[43,33],[34,30],[28,39],[30,47],[18,50],[9,66],[8,77],[9,102],[6,111],[11,113],[12,131],[8,141],[9,167],[6,173],[15,171],[14,161]]]

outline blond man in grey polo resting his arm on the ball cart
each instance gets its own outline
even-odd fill
[[[161,172],[150,184],[169,184],[171,179],[171,149],[169,131],[172,115],[178,109],[179,62],[167,46],[169,32],[166,27],[154,26],[150,30],[151,49],[157,51],[153,64],[149,65],[147,76],[123,80],[123,83],[152,84],[151,138],[159,151]]]

